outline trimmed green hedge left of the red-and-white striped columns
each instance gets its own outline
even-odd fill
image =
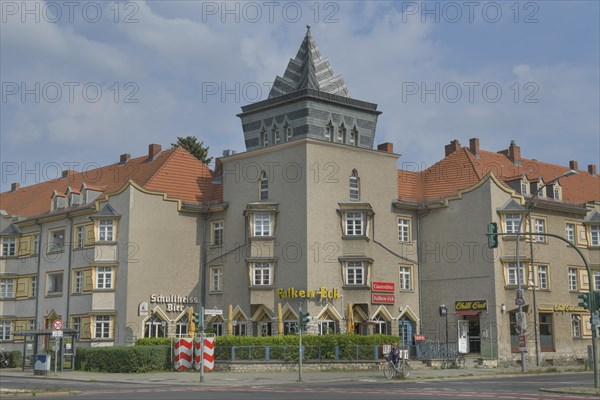
[[[171,346],[80,347],[75,369],[124,373],[170,371]]]

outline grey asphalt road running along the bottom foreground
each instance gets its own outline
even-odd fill
[[[590,374],[544,374],[455,380],[393,380],[359,379],[345,382],[311,382],[259,385],[189,385],[110,383],[85,381],[58,381],[52,379],[2,379],[3,388],[50,389],[37,393],[35,398],[66,397],[63,391],[73,391],[73,398],[86,400],[121,399],[528,399],[575,400],[582,395],[540,392],[540,387],[568,387],[589,385]],[[19,396],[25,398],[26,396]],[[594,397],[589,397],[594,398]]]

